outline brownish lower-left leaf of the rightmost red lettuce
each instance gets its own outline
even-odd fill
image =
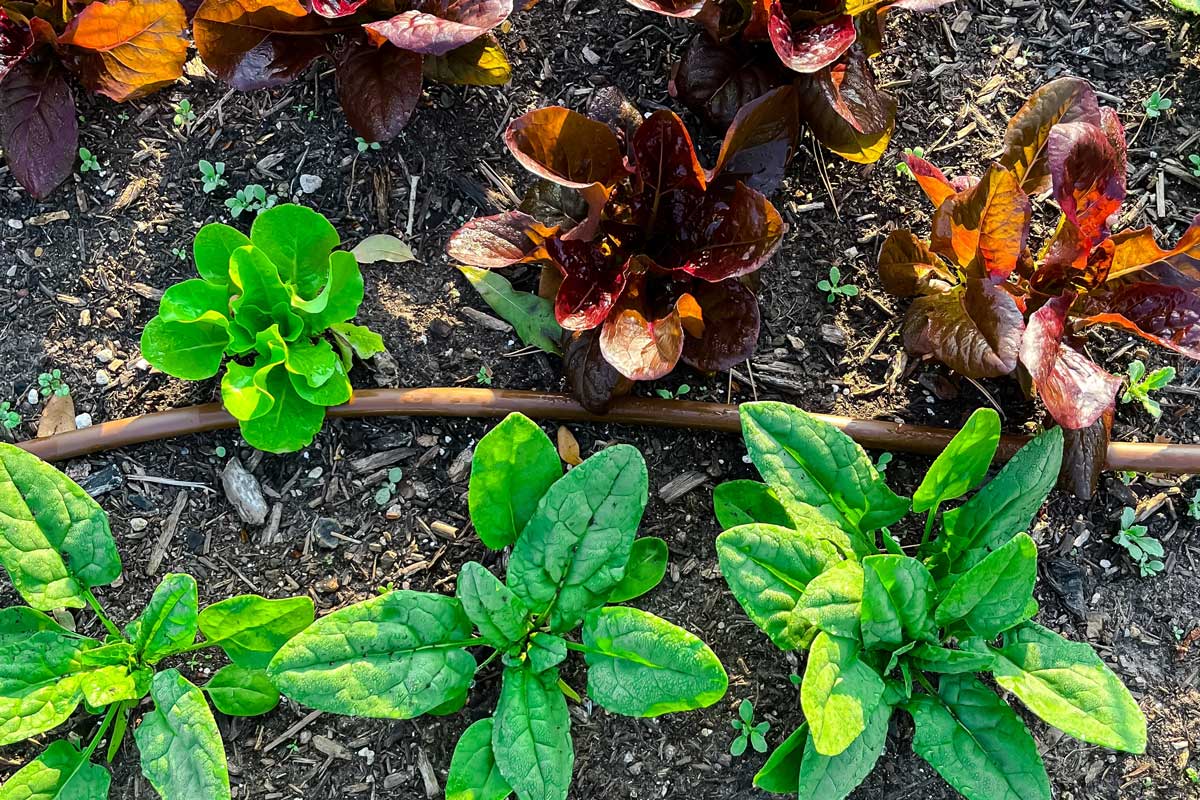
[[[968,378],[1013,372],[1024,333],[1025,319],[1013,297],[982,278],[917,297],[904,321],[910,351],[934,355]]]

